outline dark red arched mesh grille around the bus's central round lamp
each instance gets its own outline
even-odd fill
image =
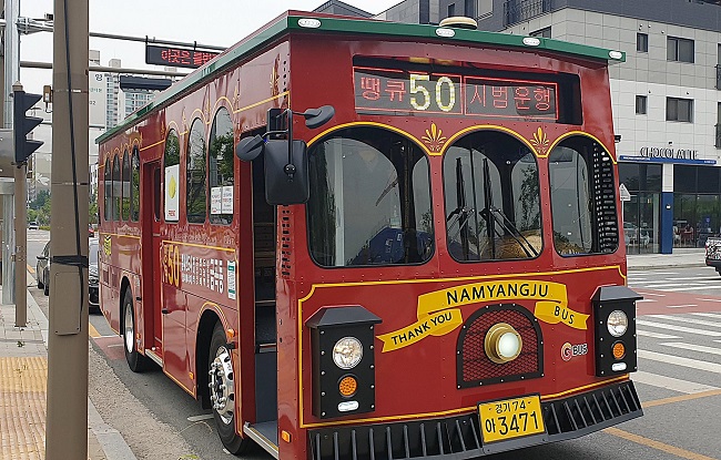
[[[491,361],[484,349],[486,334],[498,323],[511,325],[522,340],[521,354],[510,362]],[[458,337],[458,388],[542,376],[544,352],[538,320],[516,304],[492,305],[468,318]]]

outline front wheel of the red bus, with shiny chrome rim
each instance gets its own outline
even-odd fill
[[[227,349],[227,339],[225,338],[225,331],[223,326],[217,323],[213,329],[213,336],[211,338],[211,346],[207,355],[209,362],[209,389],[211,397],[211,407],[213,408],[213,418],[215,419],[215,426],[217,427],[217,435],[223,442],[225,449],[232,454],[238,454],[246,452],[252,446],[253,441],[250,438],[242,438],[235,432],[235,389],[234,389],[234,370],[233,370],[233,359],[230,357],[231,350]],[[220,365],[223,362],[222,369],[216,369],[213,365]],[[233,387],[232,397],[227,395],[229,406],[232,406],[232,413],[229,413],[227,409],[221,409],[213,407],[216,401],[213,401],[213,396],[217,397],[222,393],[219,389],[219,385],[223,381],[226,382],[229,379],[221,378],[221,376],[229,376],[227,369],[230,366],[230,386]],[[210,372],[216,372],[215,376],[211,376]],[[223,415],[221,415],[223,412]]]

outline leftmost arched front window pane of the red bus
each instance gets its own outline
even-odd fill
[[[428,159],[378,127],[337,131],[309,152],[308,237],[324,267],[418,264],[434,246]]]

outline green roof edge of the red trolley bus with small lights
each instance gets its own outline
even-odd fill
[[[304,11],[286,11],[273,21],[253,32],[237,44],[229,48],[222,54],[207,62],[183,80],[176,82],[158,98],[143,108],[133,112],[113,129],[99,136],[101,143],[115,133],[126,130],[136,121],[143,119],[153,109],[166,105],[179,94],[197,86],[211,79],[215,73],[234,65],[238,60],[253,53],[266,43],[293,31],[313,31],[315,33],[347,33],[354,35],[377,35],[380,38],[408,38],[422,41],[446,40],[448,43],[478,43],[504,48],[538,49],[556,54],[589,59],[605,62],[624,62],[626,53],[605,48],[589,47],[560,40],[540,37],[514,35],[509,33],[486,32],[468,29],[450,29],[439,25],[412,24],[388,22],[369,19],[338,17],[329,14],[308,13]]]

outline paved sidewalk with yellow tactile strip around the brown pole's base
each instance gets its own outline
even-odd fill
[[[14,305],[0,305],[0,452],[3,459],[41,460],[45,456],[48,319],[30,293],[27,327],[14,327]],[[135,460],[90,399],[88,458]]]

